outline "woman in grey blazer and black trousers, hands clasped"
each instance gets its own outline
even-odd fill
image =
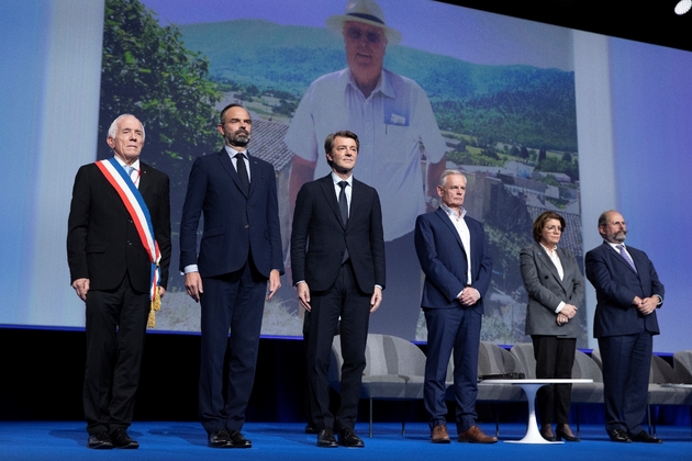
[[[526,335],[534,342],[536,378],[571,378],[574,363],[577,313],[584,299],[584,279],[574,255],[557,246],[562,232],[562,216],[542,213],[534,222],[536,244],[520,255],[522,279],[528,292]],[[571,392],[571,384],[546,385],[538,391],[540,434],[547,440],[579,441],[569,427]]]

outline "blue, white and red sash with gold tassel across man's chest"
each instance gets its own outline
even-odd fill
[[[115,192],[120,195],[123,204],[127,209],[130,216],[139,234],[139,239],[147,255],[149,255],[149,261],[152,261],[152,279],[149,297],[152,300],[152,307],[149,310],[149,318],[147,322],[148,327],[156,326],[156,311],[161,308],[161,299],[158,293],[158,285],[160,283],[160,260],[161,252],[158,249],[158,244],[154,238],[154,226],[152,225],[152,216],[149,210],[139,193],[139,190],[135,187],[132,178],[125,172],[125,169],[115,160],[115,157],[111,157],[108,160],[99,160],[96,162],[108,182],[111,183]]]

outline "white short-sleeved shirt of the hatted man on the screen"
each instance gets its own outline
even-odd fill
[[[295,155],[316,161],[314,178],[323,178],[331,171],[324,139],[341,130],[360,140],[354,175],[380,195],[384,240],[413,232],[425,212],[421,143],[428,162],[438,162],[446,151],[425,91],[384,69],[366,99],[350,70],[328,74],[305,91],[283,140]]]

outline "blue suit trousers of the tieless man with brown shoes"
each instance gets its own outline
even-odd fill
[[[457,431],[476,424],[478,395],[478,349],[482,315],[469,307],[425,308],[427,323],[427,359],[423,400],[429,427],[446,424],[445,379],[454,350],[454,395]]]

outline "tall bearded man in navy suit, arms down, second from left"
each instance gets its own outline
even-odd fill
[[[248,155],[252,127],[243,106],[221,112],[225,146],[194,160],[180,222],[180,270],[188,294],[202,306],[200,419],[213,448],[252,447],[241,429],[255,380],[267,280],[269,300],[283,273],[275,171]]]

